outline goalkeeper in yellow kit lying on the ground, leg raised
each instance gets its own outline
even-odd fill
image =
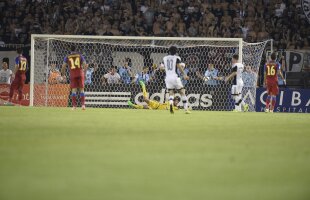
[[[144,82],[139,81],[139,84],[141,85],[141,88],[142,88],[143,100],[145,103],[147,103],[147,105],[136,105],[136,104],[133,104],[131,101],[128,101],[128,105],[130,107],[135,108],[135,109],[169,110],[169,102],[160,103],[160,102],[155,101],[155,100],[150,100],[147,97],[147,92],[146,92],[146,87],[145,87]],[[177,107],[178,103],[179,103],[178,98],[175,98],[173,101],[174,110],[179,109]]]

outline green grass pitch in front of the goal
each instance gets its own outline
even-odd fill
[[[310,115],[0,107],[1,200],[308,200]]]

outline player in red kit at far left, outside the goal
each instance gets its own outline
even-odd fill
[[[13,105],[12,98],[15,90],[18,91],[18,104],[21,105],[21,101],[23,98],[23,87],[26,81],[26,71],[27,71],[27,58],[23,56],[23,50],[17,49],[18,56],[15,58],[15,68],[14,74],[15,78],[10,87],[9,101],[7,105]]]

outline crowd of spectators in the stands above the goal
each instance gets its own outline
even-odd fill
[[[0,44],[32,33],[273,38],[278,49],[309,49],[298,0],[4,0]]]

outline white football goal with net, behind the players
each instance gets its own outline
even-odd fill
[[[85,85],[87,107],[129,108],[127,101],[143,104],[141,88],[136,80],[143,68],[148,69],[151,80],[146,82],[149,98],[167,100],[164,72],[159,69],[171,45],[186,64],[190,80],[182,80],[187,90],[189,106],[194,110],[231,110],[231,83],[216,77],[231,72],[231,58],[238,53],[245,65],[243,98],[255,111],[256,83],[261,58],[268,41],[246,43],[241,38],[183,38],[183,37],[123,37],[123,36],[31,36],[30,106],[59,106],[71,104],[68,80],[50,81],[52,70],[60,71],[69,46],[76,45],[91,69],[91,83]],[[107,84],[103,75],[110,68],[117,71],[127,63],[130,80]],[[208,64],[213,64],[209,81],[203,79]],[[182,103],[179,104],[182,106]]]

